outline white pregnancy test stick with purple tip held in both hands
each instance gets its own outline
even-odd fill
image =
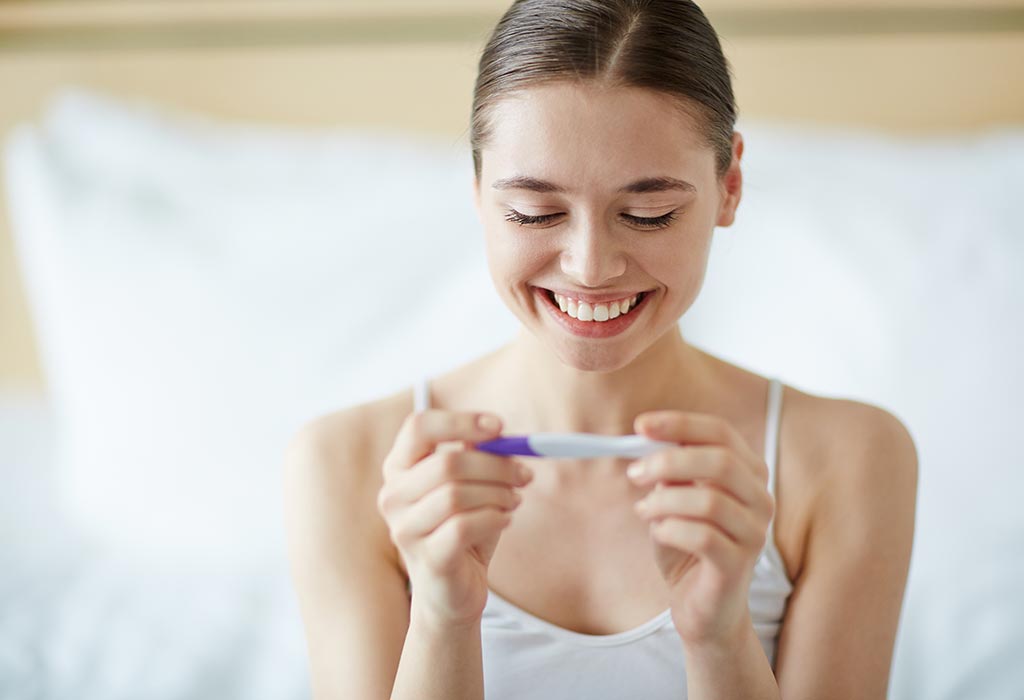
[[[642,457],[675,442],[651,440],[642,435],[593,435],[591,433],[530,433],[508,435],[478,442],[476,449],[494,454],[547,457]]]

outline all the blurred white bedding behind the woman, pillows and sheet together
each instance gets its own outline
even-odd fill
[[[1024,698],[1024,129],[740,127],[743,202],[684,332],[906,423],[891,697]],[[0,393],[0,699],[307,697],[285,440],[515,330],[466,154],[82,93],[7,146],[51,393]]]

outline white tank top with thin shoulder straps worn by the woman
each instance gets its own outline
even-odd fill
[[[414,387],[416,410],[430,405],[427,381]],[[775,465],[782,385],[768,389],[765,463],[768,490],[775,493]],[[750,609],[772,668],[775,645],[793,592],[768,525],[764,550],[754,565]],[[588,700],[680,700],[686,698],[683,646],[671,610],[615,635],[584,635],[547,622],[490,590],[480,621],[486,700],[587,698]]]

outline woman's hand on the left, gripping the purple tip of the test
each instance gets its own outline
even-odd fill
[[[488,415],[493,427],[477,419]],[[428,408],[406,419],[384,460],[377,510],[401,553],[413,608],[434,623],[479,620],[487,602],[487,565],[502,530],[532,479],[519,460],[475,449],[437,451],[441,442],[498,437],[488,413]]]

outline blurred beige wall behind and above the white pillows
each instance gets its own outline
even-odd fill
[[[8,0],[0,135],[80,85],[226,119],[458,138],[477,51],[505,5]],[[913,133],[1024,125],[1024,76],[1012,71],[1024,65],[1024,0],[965,5],[708,3],[745,118]],[[0,195],[0,387],[10,386],[41,388],[42,375]]]

